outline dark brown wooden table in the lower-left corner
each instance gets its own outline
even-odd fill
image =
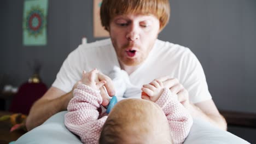
[[[10,115],[10,112],[0,111],[0,117],[3,115]],[[16,130],[10,133],[11,124],[8,121],[0,121],[0,143],[5,144],[11,141],[18,140],[20,136],[26,132],[23,130]]]

